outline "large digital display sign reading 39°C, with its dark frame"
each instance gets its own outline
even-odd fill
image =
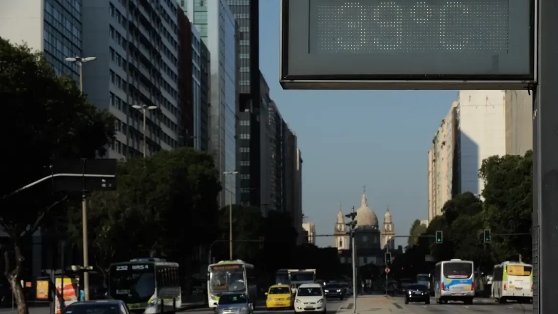
[[[282,0],[284,89],[526,89],[535,1]]]

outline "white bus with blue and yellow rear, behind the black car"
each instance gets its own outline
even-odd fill
[[[439,261],[434,270],[434,297],[436,303],[463,301],[473,304],[475,297],[474,263],[470,260]]]

